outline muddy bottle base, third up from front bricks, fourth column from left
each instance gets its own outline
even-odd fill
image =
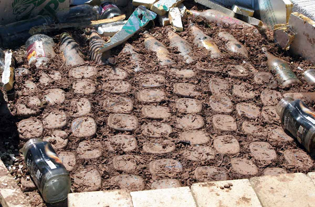
[[[129,152],[137,147],[137,140],[132,135],[115,135],[106,141],[106,146],[110,152],[115,150]]]

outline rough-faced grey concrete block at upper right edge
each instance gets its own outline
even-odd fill
[[[295,33],[289,52],[315,63],[315,21],[294,12],[290,16],[289,27]]]

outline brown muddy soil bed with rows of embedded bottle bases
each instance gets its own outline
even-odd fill
[[[5,154],[1,159],[8,166],[13,165],[10,171],[33,206],[44,204],[33,186],[28,188],[21,183],[21,178],[29,180],[30,175],[19,152],[32,136],[47,138],[56,146],[70,171],[72,192],[120,188],[135,191],[277,172],[314,171],[314,160],[282,131],[272,108],[279,94],[313,92],[314,88],[303,82],[284,89],[274,87],[272,82],[274,92],[270,92],[270,82],[264,78],[272,77],[261,74],[254,78],[257,71],[269,71],[262,46],[288,61],[300,80],[303,71],[297,67],[309,69],[312,65],[289,57],[273,43],[268,30],[257,33],[251,28],[217,25],[203,18],[184,20],[184,32],[178,33],[191,45],[189,23],[213,38],[222,58],[211,59],[209,51],[193,46],[190,55],[197,62],[186,64],[179,52],[169,47],[166,28],[161,27],[149,32],[166,46],[174,64],[159,65],[156,53],[145,48],[142,31],[128,40],[142,59],[144,70],[137,73],[131,55],[122,52],[124,45],[111,50],[114,67],[97,66],[85,58],[84,67],[94,68],[80,69],[65,66],[59,35],[53,36],[57,56],[47,67],[28,66],[24,47],[14,51],[16,68],[24,67],[30,73],[15,77],[15,93],[9,95],[12,115],[0,120],[1,129],[6,129],[0,140],[1,153]],[[67,32],[79,43],[83,55],[89,57],[88,33]],[[226,49],[219,32],[229,32],[244,44],[250,56],[247,61],[255,70],[243,64],[244,57]],[[43,79],[42,72],[50,75]],[[61,89],[63,93],[47,100],[51,89]],[[41,104],[30,105],[26,99],[29,96],[37,97]],[[32,113],[19,114],[21,103]],[[315,102],[306,103],[314,109]],[[28,127],[34,135],[24,131],[19,136],[18,122],[28,116],[33,117],[32,126],[20,122],[24,127],[19,130]],[[66,135],[57,135],[56,130]],[[11,163],[8,154],[14,154],[16,160]],[[269,168],[272,169],[266,170]]]

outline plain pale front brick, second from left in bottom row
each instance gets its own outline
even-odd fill
[[[130,193],[133,207],[196,207],[189,187]]]

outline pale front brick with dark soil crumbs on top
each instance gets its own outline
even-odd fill
[[[261,207],[248,179],[195,183],[191,192],[198,207]]]

